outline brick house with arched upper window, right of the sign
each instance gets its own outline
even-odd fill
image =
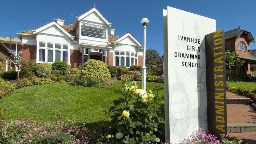
[[[237,28],[225,32],[225,50],[235,52],[239,58],[245,61],[243,66],[236,67],[236,72],[242,72],[244,75],[250,76],[251,70],[256,70],[253,64],[256,64],[256,57],[250,53],[249,44],[255,42],[249,31]],[[254,68],[253,68],[254,67]]]

